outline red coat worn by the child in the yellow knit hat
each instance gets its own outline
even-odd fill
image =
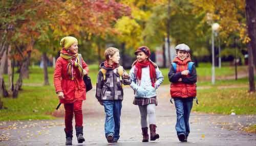
[[[82,77],[79,76],[79,70],[77,67],[74,67],[74,80],[70,79],[68,74],[67,66],[68,61],[62,57],[59,57],[56,61],[55,70],[54,70],[54,86],[56,93],[62,91],[64,93],[63,100],[60,100],[60,103],[73,103],[76,100],[82,101],[86,100],[86,86],[84,85]],[[81,59],[82,68],[89,71],[88,65],[86,62]]]

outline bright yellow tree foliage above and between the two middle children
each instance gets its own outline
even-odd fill
[[[147,45],[143,30],[157,1],[123,0],[120,2],[131,7],[131,16],[123,16],[116,22],[115,28],[118,31],[116,40],[121,46],[132,49]],[[123,47],[121,49],[124,51]]]

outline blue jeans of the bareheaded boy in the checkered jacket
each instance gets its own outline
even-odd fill
[[[112,135],[118,140],[120,135],[120,116],[122,109],[122,101],[102,101],[105,109],[105,137]]]

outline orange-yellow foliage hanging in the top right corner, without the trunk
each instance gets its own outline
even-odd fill
[[[221,26],[219,29],[220,36],[227,38],[233,33],[240,36],[243,43],[247,40],[246,21],[244,18],[245,13],[245,0],[189,0],[194,6],[193,13],[199,14],[204,12],[204,21],[209,25],[218,22]]]

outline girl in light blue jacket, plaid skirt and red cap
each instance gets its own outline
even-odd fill
[[[135,55],[137,60],[130,70],[132,80],[130,86],[135,94],[133,104],[138,105],[140,110],[142,142],[148,142],[147,115],[150,125],[150,140],[154,141],[159,138],[159,134],[156,134],[156,89],[163,82],[163,75],[158,66],[150,60],[151,52],[147,46],[139,47],[135,51]]]

